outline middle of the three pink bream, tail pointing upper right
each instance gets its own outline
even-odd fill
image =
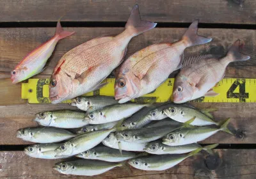
[[[195,20],[178,42],[150,45],[125,60],[116,77],[115,99],[124,103],[150,93],[182,66],[187,47],[211,42],[212,38],[197,35],[197,26]]]

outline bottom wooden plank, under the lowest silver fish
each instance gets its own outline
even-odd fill
[[[190,157],[164,171],[141,171],[130,166],[115,168],[102,175],[84,177],[62,175],[52,169],[59,160],[34,159],[23,152],[0,152],[3,178],[255,178],[256,150],[214,150],[214,155]]]

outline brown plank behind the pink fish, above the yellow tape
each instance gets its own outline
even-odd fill
[[[70,31],[76,31],[64,40],[61,40],[56,50],[49,59],[47,68],[42,74],[51,74],[58,60],[70,49],[84,43],[92,38],[102,35],[113,35],[121,33],[124,28],[67,28]],[[19,61],[45,42],[54,34],[55,28],[3,28],[0,29],[0,72],[10,72],[15,68]],[[181,38],[184,28],[156,28],[136,36],[129,43],[127,56],[140,49],[154,43],[175,42]],[[234,43],[237,38],[243,40],[245,44],[244,53],[250,55],[250,61],[231,63],[230,66],[256,65],[256,31],[245,29],[199,29],[200,35],[214,38],[211,43],[206,45],[196,45],[186,49],[185,55],[214,54],[223,56],[228,46]]]

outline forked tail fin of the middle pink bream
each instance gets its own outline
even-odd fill
[[[189,26],[186,33],[182,36],[182,40],[188,43],[188,47],[191,47],[193,45],[200,45],[200,44],[204,44],[212,41],[212,38],[206,38],[204,36],[197,35],[198,22],[199,22],[198,20],[195,20],[194,22],[192,22],[192,24]]]

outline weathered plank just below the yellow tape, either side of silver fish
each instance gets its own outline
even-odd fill
[[[234,144],[255,144],[255,116],[252,111],[256,110],[256,103],[194,103],[199,108],[216,108],[214,112],[216,121],[231,118],[230,130],[236,133],[231,136],[225,132],[218,132],[212,137],[205,139],[202,143],[234,143]],[[36,113],[57,109],[76,109],[68,104],[24,104],[24,105],[7,105],[0,108],[0,138],[1,144],[29,144],[16,137],[16,131],[19,128],[34,127],[36,123],[33,120]],[[6,135],[8,134],[8,135]]]

